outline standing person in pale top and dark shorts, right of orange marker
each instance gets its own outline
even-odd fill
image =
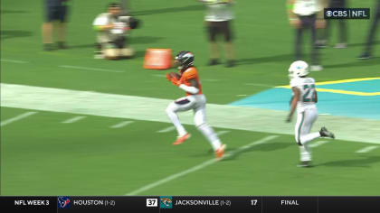
[[[234,66],[233,48],[233,0],[198,0],[206,6],[204,23],[206,25],[210,40],[211,56],[208,65],[213,66],[220,63],[220,52],[216,39],[218,35],[224,36],[224,54],[226,67]]]

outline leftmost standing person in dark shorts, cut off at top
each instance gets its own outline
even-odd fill
[[[69,0],[44,0],[43,50],[52,51],[52,30],[57,32],[57,46],[66,49],[66,21]],[[57,23],[53,24],[53,21]]]

